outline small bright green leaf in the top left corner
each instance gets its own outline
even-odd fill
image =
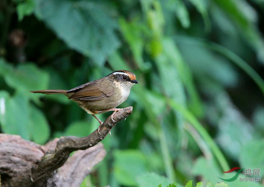
[[[29,16],[33,13],[35,9],[34,0],[25,0],[16,6],[16,11],[18,15],[18,21],[22,21],[25,16]]]

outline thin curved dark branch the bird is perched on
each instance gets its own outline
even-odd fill
[[[56,149],[47,152],[41,161],[32,168],[32,186],[38,186],[44,180],[48,179],[51,174],[61,167],[69,157],[70,153],[76,150],[85,150],[89,147],[95,146],[98,142],[103,140],[110,130],[122,119],[127,118],[132,113],[133,107],[127,107],[114,115],[113,121],[109,116],[103,123],[100,133],[95,130],[87,137],[67,136],[58,140]]]

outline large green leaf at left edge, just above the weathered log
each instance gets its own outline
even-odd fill
[[[9,93],[0,91],[0,125],[7,134],[18,134],[26,140],[45,143],[49,137],[49,126],[41,111],[23,95],[10,97]]]

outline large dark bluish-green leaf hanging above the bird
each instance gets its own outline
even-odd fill
[[[117,23],[110,12],[114,8],[106,1],[40,0],[37,7],[59,38],[98,65],[119,46]]]

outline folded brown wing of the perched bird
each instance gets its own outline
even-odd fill
[[[69,99],[96,101],[115,94],[113,90],[109,89],[109,85],[98,86],[97,82],[98,80],[95,80],[69,90],[68,92],[76,91]]]

